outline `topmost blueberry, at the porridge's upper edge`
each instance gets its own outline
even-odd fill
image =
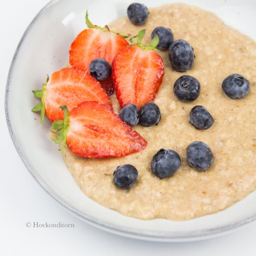
[[[142,25],[148,20],[148,8],[139,3],[130,4],[127,9],[127,15],[129,20],[134,25]]]

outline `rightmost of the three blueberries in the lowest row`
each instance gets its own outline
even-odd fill
[[[190,167],[203,172],[211,167],[213,153],[207,144],[194,141],[187,148],[187,161]]]

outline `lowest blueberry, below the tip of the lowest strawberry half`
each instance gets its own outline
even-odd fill
[[[114,184],[119,189],[130,189],[138,178],[137,169],[131,164],[118,166],[114,172]]]

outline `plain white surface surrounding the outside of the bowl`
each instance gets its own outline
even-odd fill
[[[256,223],[206,241],[144,242],[91,227],[62,209],[41,189],[23,166],[9,136],[4,90],[20,37],[46,3],[47,0],[2,0],[0,5],[0,256],[255,256]],[[26,222],[46,221],[74,223],[74,228],[26,227]]]

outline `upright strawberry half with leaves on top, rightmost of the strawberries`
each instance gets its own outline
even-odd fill
[[[138,33],[137,43],[123,49],[112,63],[112,75],[116,97],[121,108],[131,103],[141,108],[154,101],[155,94],[162,84],[164,66],[162,58],[155,52],[159,39],[155,37],[148,46],[141,45],[145,29]]]

